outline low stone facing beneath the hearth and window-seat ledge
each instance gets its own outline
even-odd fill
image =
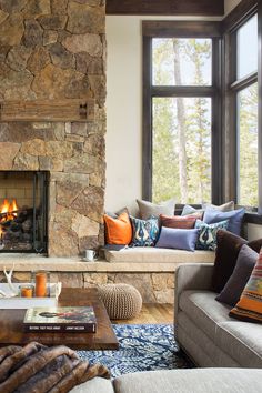
[[[63,288],[90,288],[107,283],[134,285],[142,295],[143,303],[173,303],[174,273],[98,273],[98,272],[51,272],[51,282],[62,282]],[[6,282],[0,273],[0,282]],[[31,282],[30,272],[16,272],[13,282]]]

